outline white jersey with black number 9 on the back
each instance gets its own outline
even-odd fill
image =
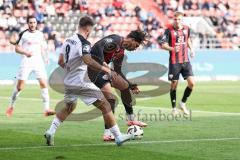
[[[65,40],[60,52],[64,55],[65,85],[86,87],[89,84],[87,65],[81,57],[90,54],[90,50],[90,42],[79,34],[74,34]]]

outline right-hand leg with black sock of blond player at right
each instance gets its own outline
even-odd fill
[[[189,76],[187,78],[187,82],[188,82],[188,86],[186,87],[186,89],[184,91],[183,98],[179,104],[179,107],[183,111],[184,114],[189,115],[190,112],[186,107],[186,101],[187,101],[187,98],[191,95],[193,87],[195,86],[195,80],[194,80],[193,76]]]

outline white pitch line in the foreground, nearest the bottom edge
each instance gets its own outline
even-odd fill
[[[182,139],[182,140],[162,140],[162,141],[131,141],[124,145],[139,145],[139,144],[161,144],[161,143],[181,143],[181,142],[214,142],[214,141],[234,141],[240,140],[240,137],[236,138],[203,138],[203,139]],[[49,149],[49,148],[69,148],[69,147],[91,147],[91,146],[114,146],[115,143],[96,143],[96,144],[74,144],[63,146],[29,146],[29,147],[6,147],[0,148],[0,151],[8,150],[24,150],[24,149]]]

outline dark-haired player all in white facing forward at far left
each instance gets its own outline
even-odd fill
[[[12,116],[17,97],[23,90],[25,81],[32,72],[35,73],[41,88],[44,115],[49,116],[55,114],[55,112],[49,108],[47,74],[44,64],[44,61],[47,62],[48,60],[45,52],[46,42],[43,33],[37,30],[37,20],[34,16],[27,17],[27,24],[28,29],[19,34],[18,40],[10,40],[10,43],[15,45],[15,51],[22,55],[22,61],[16,77],[17,83],[6,111],[7,117]]]

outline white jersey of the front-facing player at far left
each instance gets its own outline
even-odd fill
[[[38,30],[35,32],[29,32],[29,30],[25,30],[19,34],[19,39],[16,44],[20,45],[24,50],[32,53],[31,57],[22,55],[20,67],[44,66],[42,49],[46,46],[46,41],[42,32]]]

